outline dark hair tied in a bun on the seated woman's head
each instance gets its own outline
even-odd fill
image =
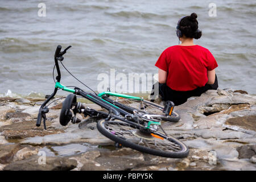
[[[201,30],[198,29],[197,14],[192,13],[190,16],[185,16],[181,19],[179,30],[187,38],[199,39],[202,36]]]

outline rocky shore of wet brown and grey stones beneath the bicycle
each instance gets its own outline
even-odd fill
[[[35,126],[43,101],[0,98],[0,170],[256,170],[256,96],[243,90],[208,90],[175,107],[180,121],[162,126],[189,147],[183,159],[115,148],[95,123],[61,126],[63,100],[49,107],[43,130]]]

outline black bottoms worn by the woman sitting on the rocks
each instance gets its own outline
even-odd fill
[[[159,83],[158,83],[159,84]],[[153,85],[151,96],[154,96],[155,93],[155,85]],[[189,90],[189,91],[176,91],[172,90],[170,87],[168,87],[166,84],[159,84],[159,97],[163,101],[172,101],[174,104],[181,105],[184,102],[187,101],[189,97],[192,96],[201,96],[202,93],[206,92],[207,90],[217,90],[218,88],[218,80],[217,76],[215,75],[215,81],[214,84],[206,84],[205,86],[196,88],[195,90]],[[152,102],[154,102],[154,97],[152,98]]]

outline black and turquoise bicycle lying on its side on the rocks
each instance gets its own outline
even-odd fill
[[[56,48],[54,55],[55,66],[53,67],[53,74],[54,69],[57,69],[55,89],[40,106],[36,126],[40,126],[43,119],[44,129],[46,129],[46,113],[49,112],[46,104],[61,89],[72,93],[63,101],[60,111],[61,125],[66,126],[69,122],[82,122],[86,126],[88,123],[97,122],[98,131],[105,137],[113,140],[116,147],[130,147],[141,152],[168,158],[184,158],[188,155],[188,147],[176,138],[167,135],[161,126],[163,121],[179,121],[179,114],[173,111],[173,102],[167,101],[165,106],[162,106],[144,100],[142,97],[126,94],[109,91],[96,94],[84,83],[82,84],[92,90],[93,93],[85,92],[76,86],[60,84],[61,72],[59,62],[63,65],[63,55],[69,48],[71,46],[65,48],[64,51],[61,51],[60,45]],[[78,79],[76,78],[76,80]],[[77,102],[77,96],[86,98],[94,104],[103,107],[106,111],[97,111],[86,107],[85,104]],[[77,118],[77,113],[84,114],[86,118],[82,120]]]

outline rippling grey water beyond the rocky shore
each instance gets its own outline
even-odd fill
[[[100,73],[157,73],[164,49],[177,44],[177,20],[195,12],[201,39],[216,58],[220,88],[256,94],[256,2],[106,0],[0,1],[0,96],[52,92],[56,46],[72,45],[64,65],[97,90]],[[209,3],[217,16],[210,17]],[[62,69],[63,70],[63,69]],[[84,88],[67,72],[61,83]],[[9,91],[8,91],[9,90]],[[86,89],[85,89],[86,90]]]

